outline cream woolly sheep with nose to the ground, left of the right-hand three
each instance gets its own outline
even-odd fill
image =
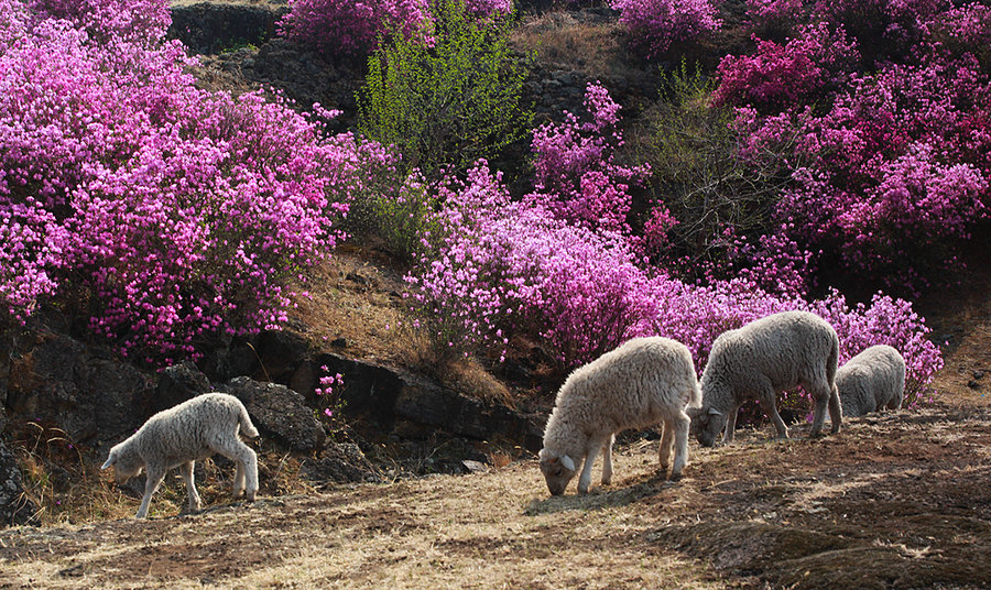
[[[591,469],[605,452],[602,484],[612,480],[616,433],[663,424],[661,469],[677,480],[688,462],[685,407],[701,402],[701,391],[685,345],[667,338],[635,338],[576,369],[565,380],[544,431],[541,471],[552,495],[564,493],[585,459],[578,493],[588,493]]]

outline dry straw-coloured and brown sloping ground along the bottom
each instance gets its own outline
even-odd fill
[[[851,419],[819,440],[769,434],[693,446],[674,484],[655,477],[656,442],[634,442],[587,496],[551,499],[525,461],[6,531],[0,588],[991,587],[987,406]]]

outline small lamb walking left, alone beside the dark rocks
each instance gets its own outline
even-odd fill
[[[253,502],[258,492],[258,457],[238,438],[238,428],[246,436],[258,436],[248,411],[237,397],[226,393],[206,393],[150,417],[137,433],[110,449],[101,469],[113,466],[118,484],[127,483],[142,469],[148,469],[144,498],[135,518],[148,515],[152,495],[165,472],[174,467],[179,468],[186,482],[189,511],[199,511],[200,500],[193,482],[193,468],[197,460],[214,454],[237,461],[232,493],[235,498],[240,495],[247,480],[247,500]]]

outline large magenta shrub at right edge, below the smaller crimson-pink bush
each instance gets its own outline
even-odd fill
[[[794,144],[775,218],[820,267],[917,291],[988,216],[991,85],[969,54],[854,77],[823,116],[738,113],[750,157]]]

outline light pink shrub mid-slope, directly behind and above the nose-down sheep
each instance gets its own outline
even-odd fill
[[[563,367],[630,337],[650,302],[618,234],[573,226],[546,208],[513,203],[481,162],[442,199],[445,240],[407,280],[429,327],[458,350],[504,347],[508,335],[546,341]],[[595,329],[589,329],[595,326]]]

